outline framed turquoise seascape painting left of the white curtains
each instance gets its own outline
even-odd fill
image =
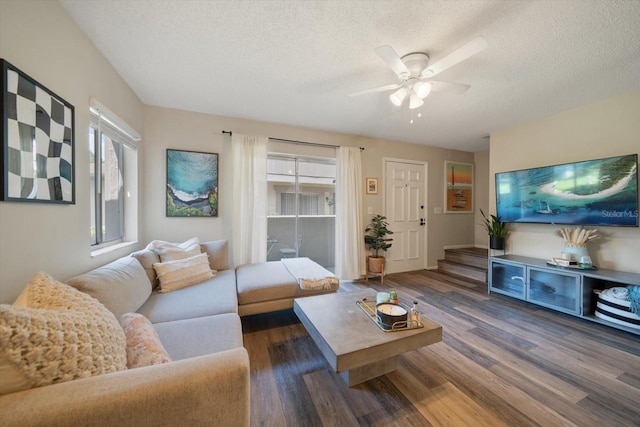
[[[218,154],[167,149],[167,216],[218,216]]]

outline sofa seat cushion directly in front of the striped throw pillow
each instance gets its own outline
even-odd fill
[[[155,290],[138,309],[154,324],[237,312],[236,275],[232,269],[218,271],[209,280],[173,292]]]

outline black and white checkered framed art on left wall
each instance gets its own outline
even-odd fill
[[[75,203],[74,108],[0,59],[0,200]]]

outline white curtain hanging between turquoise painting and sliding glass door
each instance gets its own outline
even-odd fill
[[[231,136],[233,263],[267,260],[267,138]]]

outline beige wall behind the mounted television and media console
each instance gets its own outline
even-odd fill
[[[640,153],[640,90],[491,134],[490,176],[496,172]],[[495,212],[495,182],[489,201]],[[561,226],[512,226],[507,253],[549,258],[560,254]],[[640,229],[599,227],[589,246],[594,264],[640,273]]]

